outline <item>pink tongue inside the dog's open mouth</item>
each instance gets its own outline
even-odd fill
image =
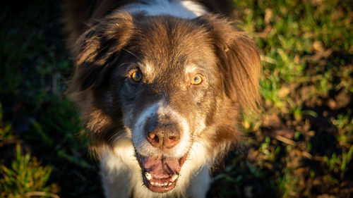
[[[153,178],[168,178],[174,173],[179,173],[181,166],[177,158],[161,158],[149,156],[145,159],[143,166],[148,173],[153,175]]]

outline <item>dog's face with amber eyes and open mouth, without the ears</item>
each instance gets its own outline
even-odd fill
[[[215,109],[215,54],[201,30],[160,18],[136,33],[111,82],[124,127],[131,132],[145,185],[172,190],[189,149]],[[169,20],[169,21],[168,21]],[[143,33],[143,34],[142,34]]]

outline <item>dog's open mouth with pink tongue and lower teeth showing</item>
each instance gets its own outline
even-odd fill
[[[177,185],[187,153],[181,158],[142,156],[136,152],[142,170],[143,183],[153,192],[169,192]]]

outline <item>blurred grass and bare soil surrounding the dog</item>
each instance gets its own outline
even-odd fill
[[[0,197],[102,197],[79,114],[61,1],[0,6]],[[353,3],[234,0],[261,48],[263,118],[208,197],[353,197]]]

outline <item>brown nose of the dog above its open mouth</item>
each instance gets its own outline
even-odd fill
[[[147,140],[153,147],[170,149],[180,142],[180,132],[175,124],[157,125],[147,132]]]

